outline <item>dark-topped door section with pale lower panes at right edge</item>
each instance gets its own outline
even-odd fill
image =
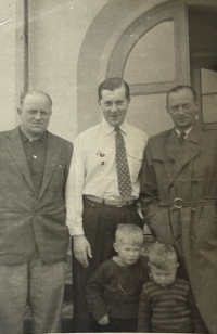
[[[200,103],[199,121],[217,127],[217,9],[189,7],[191,81]]]

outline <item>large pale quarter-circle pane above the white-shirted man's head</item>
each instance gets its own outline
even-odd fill
[[[163,22],[149,30],[135,46],[126,63],[128,84],[175,80],[174,22]]]

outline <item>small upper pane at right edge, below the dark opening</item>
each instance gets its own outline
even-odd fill
[[[201,69],[202,94],[217,93],[217,73],[210,69]]]

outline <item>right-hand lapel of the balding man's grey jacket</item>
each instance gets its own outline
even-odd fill
[[[43,181],[42,181],[39,198],[42,196],[48,183],[50,182],[50,179],[55,169],[61,152],[62,152],[62,145],[61,145],[59,138],[48,132],[47,160],[46,160]]]

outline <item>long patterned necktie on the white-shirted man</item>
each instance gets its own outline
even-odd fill
[[[115,131],[117,132],[115,137],[115,143],[118,188],[120,195],[127,197],[132,192],[132,185],[129,175],[125,141],[120,133],[120,128],[117,127]]]

